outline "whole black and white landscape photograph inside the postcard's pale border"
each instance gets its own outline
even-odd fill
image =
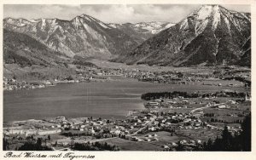
[[[4,3],[3,151],[252,151],[251,7]]]

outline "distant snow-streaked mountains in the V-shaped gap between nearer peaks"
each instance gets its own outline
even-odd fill
[[[125,24],[108,24],[113,28],[118,28],[121,31],[124,31],[127,35],[133,37],[138,43],[143,43],[149,37],[153,37],[155,34],[159,33],[162,30],[165,30],[171,26],[174,26],[174,23],[170,22],[161,22],[161,21],[152,21],[152,22],[140,22],[136,24],[125,23]]]

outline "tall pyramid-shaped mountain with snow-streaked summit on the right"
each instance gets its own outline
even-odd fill
[[[204,5],[116,61],[161,66],[230,64],[241,59],[250,35],[250,14]]]

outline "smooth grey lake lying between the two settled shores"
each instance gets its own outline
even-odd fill
[[[188,89],[209,91],[229,88],[145,83],[121,78],[104,83],[58,83],[44,89],[4,91],[3,122],[58,116],[122,118],[128,111],[144,108],[141,94]]]

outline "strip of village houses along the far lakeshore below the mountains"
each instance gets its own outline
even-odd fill
[[[116,69],[104,67],[76,68],[75,75],[47,78],[40,81],[18,81],[15,77],[3,77],[4,90],[42,89],[55,86],[56,83],[108,82],[112,76],[135,78],[142,82],[171,83],[188,85],[209,85],[219,87],[251,87],[250,70],[246,68],[217,68],[209,72],[193,71],[143,71],[139,69]]]

